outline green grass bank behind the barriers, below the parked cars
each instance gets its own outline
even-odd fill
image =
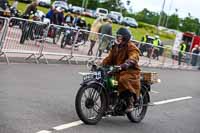
[[[13,0],[9,0],[9,3],[12,4]],[[26,3],[21,3],[19,2],[18,4],[18,10],[24,12],[25,8],[26,8],[27,4]],[[43,11],[44,13],[48,12],[48,8],[45,7],[38,7],[39,10]],[[93,18],[88,18],[88,17],[84,17],[87,21],[87,23],[92,24],[94,19]],[[113,28],[113,34],[115,34],[115,32],[122,27],[122,25],[118,25],[118,24],[113,24],[112,28]],[[139,22],[139,27],[138,28],[130,28],[130,31],[132,32],[134,38],[136,40],[141,40],[142,36],[144,36],[145,34],[149,34],[151,36],[155,36],[157,34],[157,30],[156,27],[153,25],[149,25],[146,23],[142,23]],[[161,40],[173,40],[175,38],[175,35],[173,34],[167,34],[163,31],[159,31],[159,36]]]

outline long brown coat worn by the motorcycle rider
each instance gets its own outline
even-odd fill
[[[134,62],[134,66],[116,74],[119,82],[119,91],[130,91],[137,96],[140,94],[140,67],[139,49],[134,43],[128,42],[124,46],[114,45],[109,55],[103,60],[103,65],[121,65],[127,60]]]

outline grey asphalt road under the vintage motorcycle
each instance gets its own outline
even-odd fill
[[[153,70],[162,82],[152,86],[151,101],[191,99],[149,107],[145,119],[103,119],[53,133],[200,133],[200,72]],[[0,133],[36,133],[79,120],[74,101],[80,87],[78,65],[0,64]]]

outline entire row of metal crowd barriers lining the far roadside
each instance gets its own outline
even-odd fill
[[[26,59],[33,56],[37,63],[42,57],[48,63],[48,56],[59,56],[58,61],[69,63],[73,59],[76,63],[77,60],[91,62],[107,56],[115,39],[114,36],[83,29],[20,18],[0,17],[0,28],[2,20],[0,55],[4,55],[8,63],[7,53],[29,54]],[[183,53],[180,57],[179,51],[166,45],[154,47],[151,43],[131,41],[141,51],[141,66],[192,68],[200,65],[200,55]]]

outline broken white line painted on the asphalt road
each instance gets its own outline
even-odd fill
[[[162,104],[187,100],[187,99],[191,99],[191,98],[192,98],[191,96],[186,96],[186,97],[174,98],[174,99],[169,99],[169,100],[163,100],[163,101],[154,102],[153,105],[162,105]],[[71,122],[71,123],[67,123],[67,124],[63,124],[63,125],[53,127],[52,130],[60,131],[60,130],[68,129],[68,128],[71,128],[71,127],[79,126],[79,125],[82,125],[82,124],[83,124],[83,122],[81,120],[79,120],[79,121],[74,121],[74,122]],[[41,131],[36,132],[36,133],[52,133],[52,131],[41,130]]]

